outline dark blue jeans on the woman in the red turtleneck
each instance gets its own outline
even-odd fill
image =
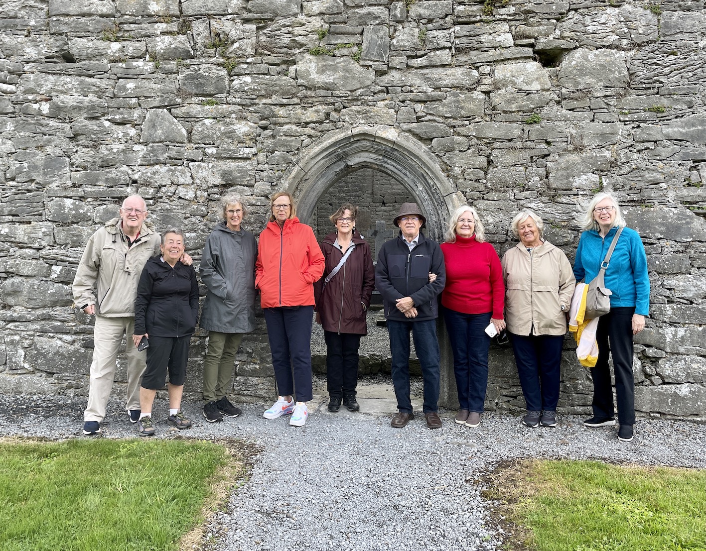
[[[483,413],[490,348],[490,337],[485,328],[492,313],[464,314],[444,308],[443,315],[453,351],[459,408]]]

